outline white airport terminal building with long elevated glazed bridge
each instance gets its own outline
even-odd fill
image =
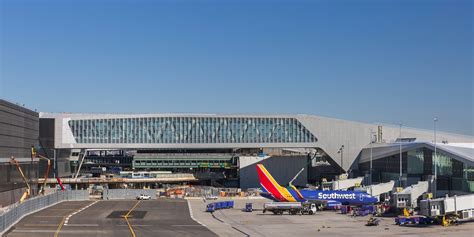
[[[305,168],[300,186],[343,172],[403,185],[435,173],[433,131],[402,128],[400,136],[398,126],[313,115],[40,113],[40,131],[64,174],[167,171],[252,188],[257,162],[282,184]],[[438,132],[436,140],[438,189],[474,192],[474,137]]]

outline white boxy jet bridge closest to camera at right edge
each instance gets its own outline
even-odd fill
[[[474,194],[422,200],[420,214],[454,221],[474,219]]]

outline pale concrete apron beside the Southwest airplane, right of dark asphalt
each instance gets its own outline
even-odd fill
[[[205,212],[207,203],[202,199],[189,201],[194,218],[219,236],[472,237],[474,231],[474,222],[448,227],[398,226],[395,224],[394,217],[383,217],[379,226],[365,226],[368,216],[352,217],[336,211],[321,211],[315,215],[301,216],[273,215],[268,212],[263,214],[263,203],[269,202],[266,199],[234,200],[233,209],[219,210],[211,215]],[[253,203],[256,210],[243,212],[246,202]]]

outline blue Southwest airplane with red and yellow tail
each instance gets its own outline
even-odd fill
[[[284,188],[273,179],[262,164],[257,164],[257,172],[263,189],[260,195],[277,202],[322,202],[328,207],[335,205],[370,205],[377,202],[375,197],[366,192],[298,190],[291,182],[289,187]]]

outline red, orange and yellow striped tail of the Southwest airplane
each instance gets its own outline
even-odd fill
[[[296,202],[295,197],[291,195],[288,189],[280,186],[262,164],[257,164],[257,172],[260,185],[262,185],[262,187],[270,192],[276,199],[283,202]]]

